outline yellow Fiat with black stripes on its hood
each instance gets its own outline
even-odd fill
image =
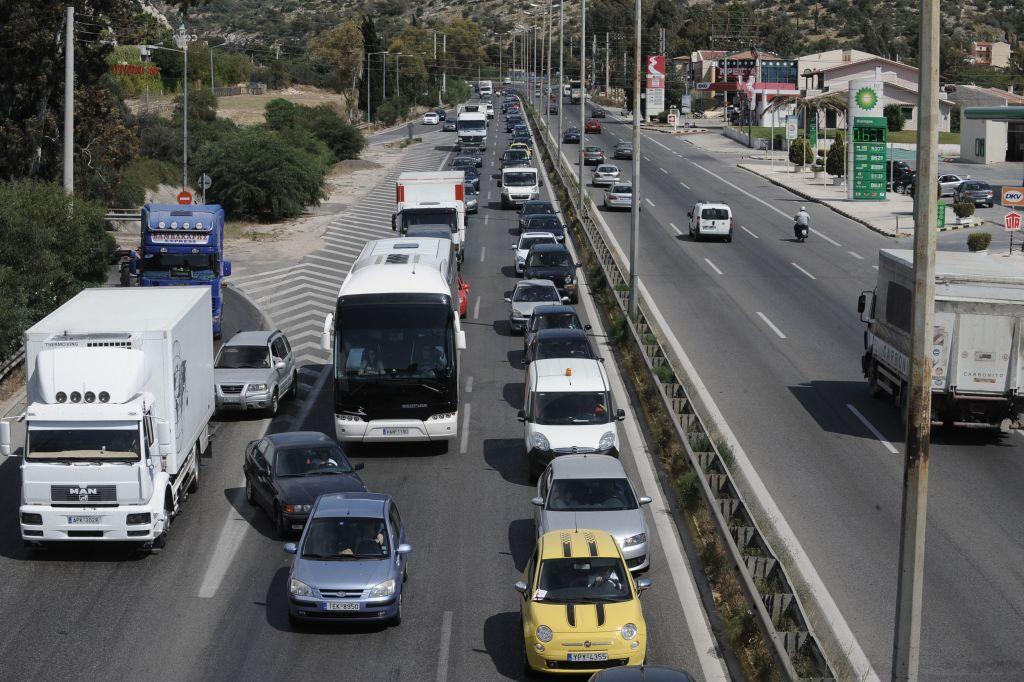
[[[555,674],[639,666],[647,653],[640,593],[614,539],[603,530],[553,530],[537,541],[522,580],[526,667]]]

